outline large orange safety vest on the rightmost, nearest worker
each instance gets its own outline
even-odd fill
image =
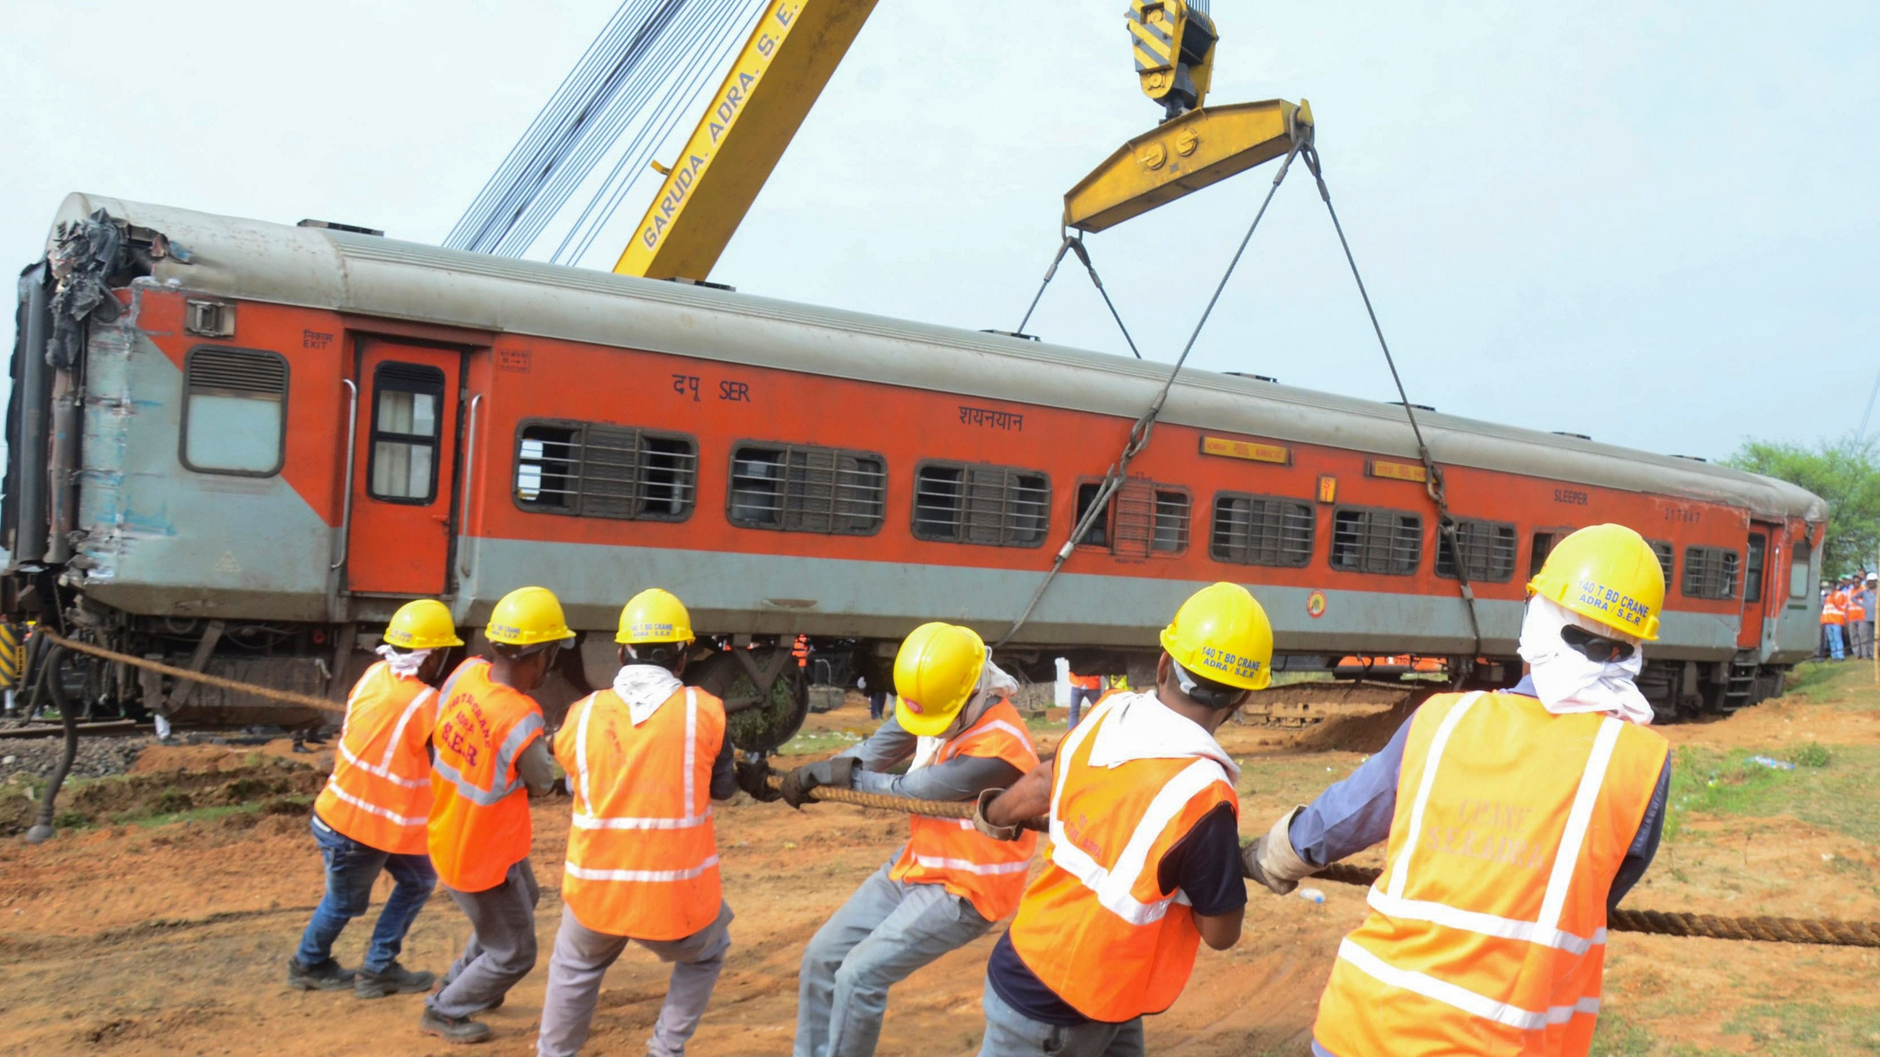
[[[1339,1057],[1587,1053],[1606,899],[1668,753],[1651,728],[1525,695],[1429,698],[1318,1044]]]

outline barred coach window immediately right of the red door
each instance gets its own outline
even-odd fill
[[[515,503],[525,511],[682,522],[696,490],[692,437],[543,421],[515,436]]]

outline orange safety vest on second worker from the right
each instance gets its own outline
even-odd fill
[[[1188,986],[1201,931],[1181,892],[1164,892],[1162,856],[1209,811],[1241,798],[1205,757],[1090,766],[1109,697],[1057,755],[1051,850],[1011,920],[1026,969],[1090,1019],[1122,1023],[1169,1008]]]

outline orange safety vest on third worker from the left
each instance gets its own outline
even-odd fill
[[[718,918],[711,770],[722,745],[724,702],[696,687],[637,727],[613,689],[568,710],[555,758],[573,779],[562,901],[575,920],[658,941]]]

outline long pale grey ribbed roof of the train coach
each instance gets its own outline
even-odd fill
[[[188,252],[190,263],[158,259],[147,282],[216,297],[489,334],[620,344],[1130,419],[1143,413],[1167,377],[1162,362],[1000,334],[85,193],[64,201],[58,222],[100,208],[115,220],[160,231]],[[1416,458],[1402,407],[1207,370],[1183,372],[1162,419]],[[1444,464],[1730,503],[1814,522],[1827,516],[1827,503],[1812,492],[1724,466],[1457,415],[1425,411],[1418,422],[1433,456]]]

